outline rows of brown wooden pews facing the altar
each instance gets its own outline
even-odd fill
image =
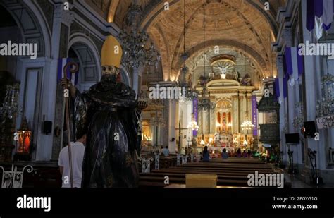
[[[152,170],[151,174],[140,174],[140,186],[164,187],[165,176],[169,184],[184,184],[186,174],[216,174],[217,186],[248,186],[248,174],[273,174],[271,166],[258,159],[230,158],[211,162],[192,162],[168,169]]]

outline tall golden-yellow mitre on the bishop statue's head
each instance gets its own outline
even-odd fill
[[[102,47],[101,65],[102,66],[115,66],[120,68],[120,61],[122,59],[122,47],[116,39],[116,37],[106,37]]]

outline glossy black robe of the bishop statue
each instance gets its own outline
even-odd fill
[[[77,90],[75,132],[87,133],[83,188],[138,186],[141,111],[135,96],[123,83],[100,82],[82,94]]]

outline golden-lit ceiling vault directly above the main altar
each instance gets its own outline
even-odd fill
[[[271,74],[272,68],[271,43],[275,41],[277,32],[273,13],[264,11],[261,1],[248,0],[193,0],[185,1],[185,14],[183,13],[183,1],[176,0],[169,3],[169,11],[163,10],[163,2],[155,1],[150,11],[142,20],[142,28],[149,32],[150,37],[161,41],[161,36],[168,46],[161,52],[168,53],[169,66],[164,61],[163,71],[170,73],[169,78],[177,78],[183,60],[183,47],[188,53],[206,47],[222,46],[234,47],[244,51],[258,64],[261,77]],[[204,4],[205,4],[205,41],[204,42]],[[145,10],[144,10],[145,12]],[[186,31],[185,42],[183,40],[185,16]],[[159,46],[158,46],[159,47]],[[191,55],[191,54],[190,54]],[[164,74],[165,74],[164,73]],[[166,75],[164,75],[166,78]],[[173,80],[171,79],[171,80]]]

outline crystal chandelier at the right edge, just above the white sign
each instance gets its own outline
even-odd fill
[[[317,101],[316,117],[328,116],[334,114],[334,75],[324,75],[321,78],[321,90],[323,90],[323,97]]]

